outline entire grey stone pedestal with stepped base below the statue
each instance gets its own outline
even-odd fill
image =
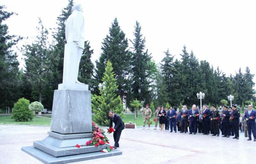
[[[64,164],[121,155],[114,150],[102,153],[109,145],[81,146],[92,137],[91,92],[73,89],[54,91],[51,130],[48,137],[22,150],[46,164]]]

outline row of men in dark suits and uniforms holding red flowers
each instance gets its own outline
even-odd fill
[[[256,141],[256,111],[250,110],[252,105],[249,105],[248,108],[249,110],[245,112],[249,133],[248,140],[252,140],[251,133],[253,133],[254,141]],[[231,109],[231,111],[228,109]],[[215,105],[212,105],[212,110],[210,110],[207,105],[203,105],[203,110],[200,111],[196,109],[196,105],[193,105],[191,110],[188,110],[187,106],[184,105],[180,112],[172,110],[171,107],[170,110],[167,111],[170,132],[172,132],[173,129],[176,132],[178,127],[180,133],[187,133],[189,122],[189,134],[196,134],[198,128],[198,132],[203,133],[203,135],[209,135],[210,131],[212,131],[212,136],[219,136],[219,128],[221,125],[223,131],[222,137],[229,138],[231,135],[230,130],[233,130],[234,139],[239,139],[239,117],[240,111],[234,104],[232,104],[231,107],[224,105],[221,114]],[[180,125],[178,125],[179,123]]]

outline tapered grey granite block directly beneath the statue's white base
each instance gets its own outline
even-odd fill
[[[91,133],[91,92],[55,90],[51,130],[61,134]]]

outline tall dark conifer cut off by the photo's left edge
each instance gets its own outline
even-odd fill
[[[11,48],[22,38],[9,35],[4,24],[13,14],[0,5],[0,108],[12,107],[20,97],[19,62]]]

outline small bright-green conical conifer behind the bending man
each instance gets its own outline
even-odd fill
[[[103,88],[98,95],[91,99],[92,110],[95,113],[93,120],[101,126],[109,125],[108,112],[110,110],[123,117],[124,108],[120,96],[116,94],[117,80],[114,78],[113,67],[110,61],[106,63],[105,73],[102,78]]]

